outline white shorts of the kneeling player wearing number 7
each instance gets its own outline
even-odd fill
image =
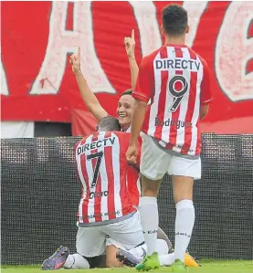
[[[83,257],[97,257],[105,247],[114,245],[123,250],[136,247],[144,241],[139,212],[121,222],[105,225],[79,227],[77,252]]]

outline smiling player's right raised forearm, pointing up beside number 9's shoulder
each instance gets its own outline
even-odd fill
[[[139,68],[135,59],[134,50],[135,50],[135,39],[134,39],[134,29],[132,29],[132,36],[124,38],[124,45],[126,48],[126,53],[129,60],[129,66],[131,71],[131,82],[132,89],[135,88],[135,84],[137,81]]]

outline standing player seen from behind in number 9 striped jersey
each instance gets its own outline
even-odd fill
[[[159,268],[155,239],[158,226],[157,194],[164,173],[174,185],[174,271],[184,271],[184,253],[195,222],[194,180],[201,178],[199,120],[212,100],[206,61],[184,45],[189,31],[182,6],[163,8],[165,45],[142,58],[132,112],[132,137],[126,158],[135,163],[142,131],[142,197],[140,214],[147,256],[138,270]],[[147,109],[147,102],[152,100]]]

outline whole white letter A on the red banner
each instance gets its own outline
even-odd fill
[[[68,2],[52,2],[46,56],[30,94],[57,94],[69,65],[67,54],[77,52],[79,46],[81,68],[90,89],[94,93],[116,93],[95,52],[90,5],[90,1],[74,2],[73,31],[69,31],[65,29]]]

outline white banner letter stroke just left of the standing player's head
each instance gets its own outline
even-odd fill
[[[142,56],[162,46],[160,26],[156,19],[156,7],[151,1],[130,1],[140,30]]]

